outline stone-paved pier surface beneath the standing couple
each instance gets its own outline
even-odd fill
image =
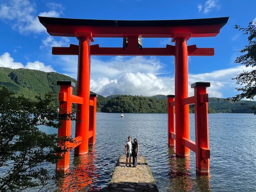
[[[157,186],[144,156],[138,156],[138,166],[124,167],[126,156],[120,155],[107,192],[157,191]],[[132,162],[131,162],[132,165]]]

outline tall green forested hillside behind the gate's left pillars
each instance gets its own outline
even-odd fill
[[[75,79],[55,72],[0,67],[0,86],[5,86],[16,94],[23,94],[30,98],[53,91],[56,93],[56,102],[58,102],[60,86],[57,85],[57,81],[73,81],[77,84]],[[76,87],[73,88],[73,94],[76,95]],[[101,111],[106,101],[105,97],[98,96],[97,111]]]

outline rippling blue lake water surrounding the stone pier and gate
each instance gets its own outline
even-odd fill
[[[196,176],[195,153],[176,158],[167,146],[167,114],[97,113],[96,144],[82,157],[71,152],[69,175],[42,191],[104,191],[128,135],[137,138],[159,191],[256,191],[256,116],[209,114],[210,176]],[[72,122],[72,134],[74,136]],[[54,129],[42,128],[47,132]],[[190,114],[190,139],[195,138]],[[54,165],[46,165],[52,173]],[[31,191],[31,189],[30,189]]]

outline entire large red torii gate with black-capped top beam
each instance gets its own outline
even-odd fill
[[[51,36],[76,37],[79,40],[79,45],[70,44],[69,47],[52,48],[52,54],[54,55],[78,55],[78,97],[76,99],[77,109],[80,112],[77,113],[77,118],[82,121],[76,122],[76,138],[81,140],[82,143],[75,148],[75,154],[86,154],[89,138],[95,138],[95,129],[93,131],[89,129],[89,124],[91,124],[91,127],[95,127],[95,120],[93,122],[89,120],[90,104],[96,105],[96,97],[94,97],[94,103],[92,98],[90,99],[91,55],[175,56],[175,101],[174,96],[168,97],[168,145],[174,146],[174,139],[176,140],[176,156],[179,157],[189,156],[189,149],[193,150],[196,153],[197,172],[199,174],[209,174],[210,151],[208,149],[208,95],[206,87],[209,87],[210,83],[197,82],[192,84],[191,87],[195,89],[195,96],[188,97],[188,56],[213,56],[214,48],[197,48],[196,45],[187,46],[187,40],[193,37],[215,37],[227,23],[228,17],[152,21],[38,18]],[[91,45],[94,37],[128,38],[128,45],[120,48],[99,47],[99,45]],[[175,42],[175,46],[141,48],[138,46],[138,38],[140,37],[173,38],[172,42]],[[59,84],[62,85],[63,83],[59,82]],[[71,82],[68,85],[64,82],[63,86],[70,88],[72,85]],[[70,98],[74,98],[74,96]],[[71,100],[65,101],[63,98],[61,100],[61,96],[59,100],[69,102],[69,106],[72,103]],[[189,139],[188,104],[193,103],[195,103],[196,142]],[[95,118],[95,114],[92,114],[92,112],[90,116]],[[67,127],[65,127],[66,129]],[[90,143],[94,144],[93,142]],[[68,169],[68,155],[66,159],[57,164],[57,169]]]

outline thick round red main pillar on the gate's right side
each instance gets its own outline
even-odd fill
[[[189,138],[189,106],[182,105],[188,97],[188,49],[185,37],[175,37],[175,133],[176,156],[189,156],[182,138]]]

